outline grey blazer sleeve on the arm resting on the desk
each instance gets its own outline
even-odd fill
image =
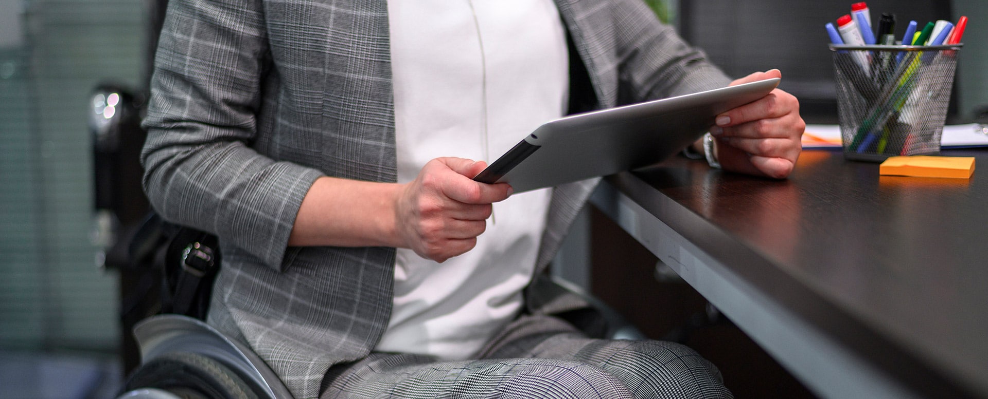
[[[616,0],[618,102],[663,99],[730,84],[706,54],[661,24],[640,0]]]

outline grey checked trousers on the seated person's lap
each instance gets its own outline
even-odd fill
[[[589,339],[551,316],[523,316],[494,342],[463,362],[372,353],[331,368],[321,399],[733,397],[715,366],[676,343]]]

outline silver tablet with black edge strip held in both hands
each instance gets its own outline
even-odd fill
[[[651,166],[684,149],[717,114],[761,99],[779,79],[652,100],[546,122],[473,177],[515,192]]]

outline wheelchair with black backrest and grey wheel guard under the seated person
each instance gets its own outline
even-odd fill
[[[102,224],[109,231],[102,234],[116,237],[102,253],[106,266],[121,273],[122,352],[124,368],[133,369],[118,399],[292,399],[247,345],[203,321],[221,252],[215,236],[149,213],[139,173],[133,172],[140,170],[136,160],[145,135],[139,126],[142,102],[123,86],[100,85],[90,123],[97,214],[109,220]],[[113,117],[106,117],[108,106],[119,108]],[[533,284],[539,285],[533,291],[538,298],[529,300],[552,303],[554,315],[590,337],[644,338],[615,310],[571,283],[538,276]],[[139,352],[139,365],[132,352]]]

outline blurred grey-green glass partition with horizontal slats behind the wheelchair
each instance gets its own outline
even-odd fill
[[[116,350],[93,242],[92,90],[139,87],[141,1],[0,2],[0,349]]]

